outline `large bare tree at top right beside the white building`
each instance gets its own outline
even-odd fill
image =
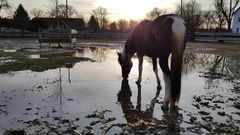
[[[219,10],[224,16],[228,30],[231,30],[233,14],[239,4],[240,0],[215,0],[215,9]]]

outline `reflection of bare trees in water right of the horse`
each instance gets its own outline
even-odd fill
[[[226,58],[216,54],[186,53],[183,59],[183,73],[199,72],[206,78],[208,86],[216,86],[219,79],[229,75]]]

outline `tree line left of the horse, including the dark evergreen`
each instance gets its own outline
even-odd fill
[[[7,0],[1,0],[7,1]],[[1,7],[1,6],[0,6]],[[6,8],[0,8],[7,10],[10,8],[10,5]],[[134,26],[137,25],[138,21],[135,20],[124,20],[120,19],[118,21],[110,22],[108,16],[109,13],[106,8],[98,7],[92,10],[91,16],[88,21],[85,21],[84,17],[77,13],[77,10],[72,6],[68,6],[68,17],[75,18],[80,20],[79,27],[81,31],[90,31],[90,32],[129,32]],[[58,6],[58,16],[56,16],[56,9],[53,7],[48,12],[47,15],[44,15],[44,10],[42,9],[32,9],[29,13],[23,7],[22,4],[19,4],[16,11],[14,11],[12,18],[1,18],[0,17],[0,26],[7,28],[16,28],[20,29],[22,33],[25,30],[28,31],[37,31],[38,28],[49,28],[49,24],[42,21],[40,18],[56,18],[64,19],[66,17],[66,5]]]

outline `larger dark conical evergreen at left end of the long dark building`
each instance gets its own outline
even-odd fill
[[[28,16],[27,11],[24,9],[22,4],[20,4],[17,10],[14,12],[13,21],[14,27],[21,29],[22,35],[25,33],[25,29],[29,25],[30,17]]]

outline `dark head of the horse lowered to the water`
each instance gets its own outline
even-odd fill
[[[121,68],[122,68],[122,77],[124,79],[127,79],[128,74],[130,73],[131,68],[133,66],[131,58],[127,57],[127,56],[123,56],[122,53],[118,53],[118,62],[121,65]]]

